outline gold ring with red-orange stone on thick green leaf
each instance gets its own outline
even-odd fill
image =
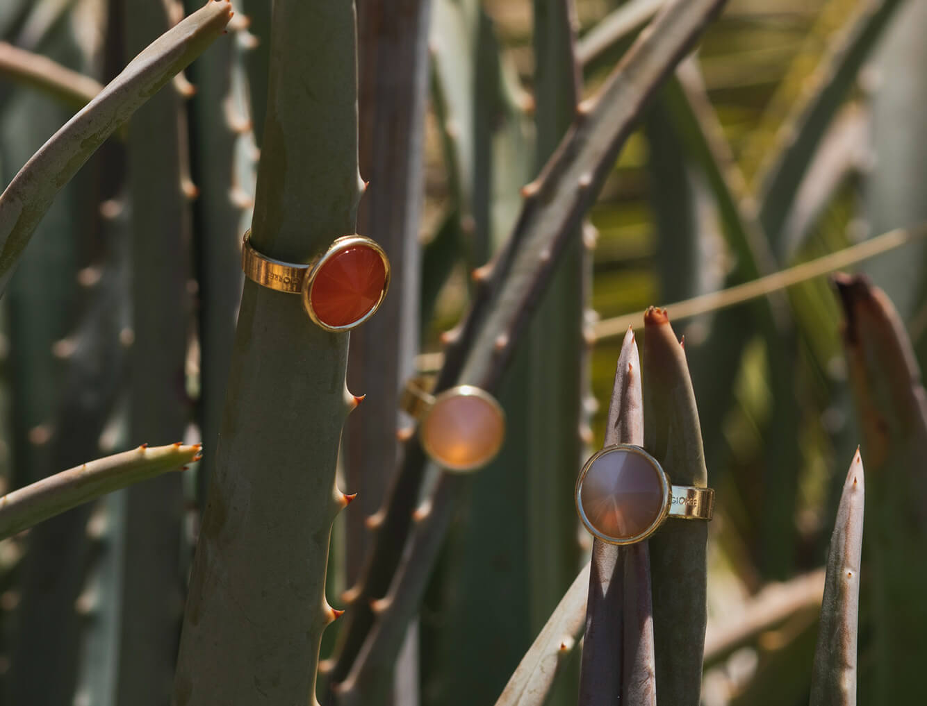
[[[245,233],[241,269],[249,280],[278,292],[298,294],[303,308],[322,328],[345,331],[374,315],[387,296],[389,258],[363,235],[343,235],[305,265],[261,255]]]

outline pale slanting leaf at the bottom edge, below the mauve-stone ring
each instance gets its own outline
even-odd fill
[[[543,706],[583,628],[590,565],[566,589],[538,637],[518,663],[496,706]]]

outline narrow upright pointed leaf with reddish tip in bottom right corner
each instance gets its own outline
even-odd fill
[[[855,706],[857,615],[866,485],[857,449],[846,474],[827,558],[818,649],[811,676],[811,706]]]

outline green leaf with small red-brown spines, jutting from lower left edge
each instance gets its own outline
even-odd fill
[[[141,446],[49,475],[0,497],[0,539],[197,459],[199,445]]]

